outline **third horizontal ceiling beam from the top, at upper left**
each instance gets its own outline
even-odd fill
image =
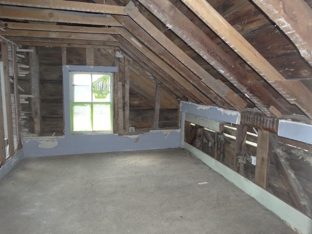
[[[52,31],[52,32],[72,32],[72,33],[97,33],[97,34],[118,34],[116,27],[87,27],[87,26],[67,26],[47,23],[19,23],[0,22],[0,27],[7,29]]]

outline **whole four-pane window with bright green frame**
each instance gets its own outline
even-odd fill
[[[112,74],[72,72],[71,132],[112,133]]]

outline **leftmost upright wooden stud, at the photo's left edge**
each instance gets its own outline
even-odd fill
[[[13,137],[13,123],[12,123],[12,109],[11,109],[11,86],[10,86],[11,84],[10,84],[10,74],[9,74],[8,45],[5,40],[2,40],[1,42],[1,56],[2,56],[2,61],[3,61],[4,92],[5,92],[8,141],[9,141],[9,155],[10,157],[12,157],[14,155],[14,137]]]

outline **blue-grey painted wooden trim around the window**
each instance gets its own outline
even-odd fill
[[[80,66],[80,65],[63,65],[63,106],[64,106],[64,134],[69,135],[81,135],[81,134],[111,134],[105,132],[83,132],[72,133],[72,121],[71,121],[71,78],[70,73],[114,73],[118,72],[118,67],[105,67],[105,66]],[[114,93],[114,74],[112,74],[112,93]],[[113,98],[113,97],[112,97]],[[113,102],[111,101],[111,108],[113,109]],[[113,111],[112,111],[112,124],[113,124]],[[112,131],[114,131],[112,129]]]

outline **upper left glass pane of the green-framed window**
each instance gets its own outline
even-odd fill
[[[91,74],[74,74],[74,102],[91,102]]]

